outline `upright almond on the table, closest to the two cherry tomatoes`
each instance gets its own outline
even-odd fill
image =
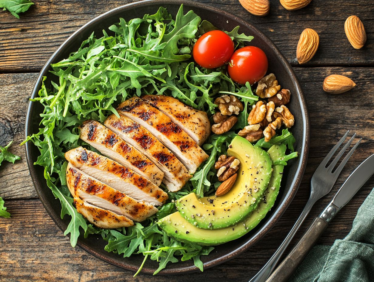
[[[300,35],[297,43],[296,58],[300,64],[304,64],[313,58],[319,46],[319,36],[312,28],[306,28]]]

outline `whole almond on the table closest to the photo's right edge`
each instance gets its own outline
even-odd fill
[[[349,43],[355,49],[364,47],[366,42],[366,32],[362,21],[358,16],[349,16],[344,23],[344,31]]]

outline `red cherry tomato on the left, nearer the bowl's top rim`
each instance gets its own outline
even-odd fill
[[[234,52],[234,42],[220,30],[204,33],[193,47],[193,58],[206,69],[214,69],[227,63]]]

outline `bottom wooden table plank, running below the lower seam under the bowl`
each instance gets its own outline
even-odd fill
[[[355,216],[357,207],[364,200],[360,192],[334,219],[320,243],[332,244],[344,237]],[[303,196],[303,195],[302,195]],[[300,213],[304,198],[298,193],[285,215],[275,227],[250,250],[220,266],[206,269],[203,273],[162,276],[142,275],[133,278],[133,272],[111,266],[79,247],[72,248],[67,237],[47,215],[38,199],[9,200],[6,202],[11,219],[0,218],[0,277],[2,281],[207,281],[246,282],[270,258],[283,237]],[[321,206],[321,205],[319,205]],[[321,207],[319,207],[321,209]],[[298,232],[300,237],[313,216],[319,210],[313,209]],[[295,242],[295,240],[294,240]],[[219,248],[219,246],[217,246]]]

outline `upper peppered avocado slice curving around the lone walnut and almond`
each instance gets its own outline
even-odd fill
[[[199,228],[220,229],[236,224],[254,210],[269,184],[272,161],[263,149],[236,136],[227,154],[240,161],[236,182],[229,192],[203,198],[190,193],[175,203],[181,216]]]

